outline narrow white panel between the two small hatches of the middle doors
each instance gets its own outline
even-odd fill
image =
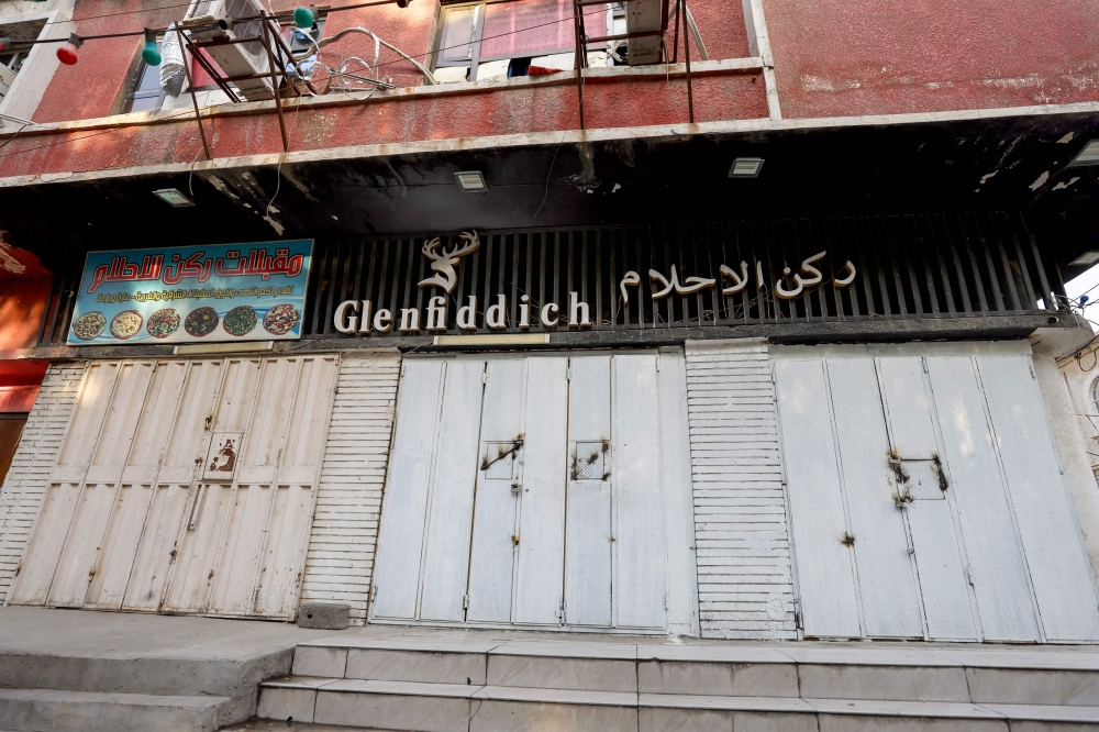
[[[559,622],[565,566],[568,361],[559,356],[534,356],[525,361],[525,437],[514,622],[554,624]],[[577,378],[575,370],[573,378]]]

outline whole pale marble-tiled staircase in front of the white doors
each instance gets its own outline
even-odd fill
[[[1099,650],[1088,647],[347,634],[299,644],[292,672],[260,685],[262,720],[423,732],[1099,729]]]

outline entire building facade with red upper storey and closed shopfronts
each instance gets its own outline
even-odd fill
[[[42,284],[0,373],[41,390],[0,597],[1099,640],[1057,366],[1092,337],[1099,26],[942,5],[237,9],[313,71],[196,46],[175,97],[142,31],[168,58],[196,8],[10,9],[0,226]]]

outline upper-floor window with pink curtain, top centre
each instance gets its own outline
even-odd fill
[[[589,36],[609,35],[621,3],[584,7]],[[624,18],[624,14],[623,14]],[[436,38],[439,81],[476,81],[574,67],[573,0],[513,0],[442,9]],[[589,66],[618,63],[606,43],[590,44]]]

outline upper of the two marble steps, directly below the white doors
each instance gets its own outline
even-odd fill
[[[1099,654],[344,635],[299,644],[298,676],[465,686],[1099,707]]]

